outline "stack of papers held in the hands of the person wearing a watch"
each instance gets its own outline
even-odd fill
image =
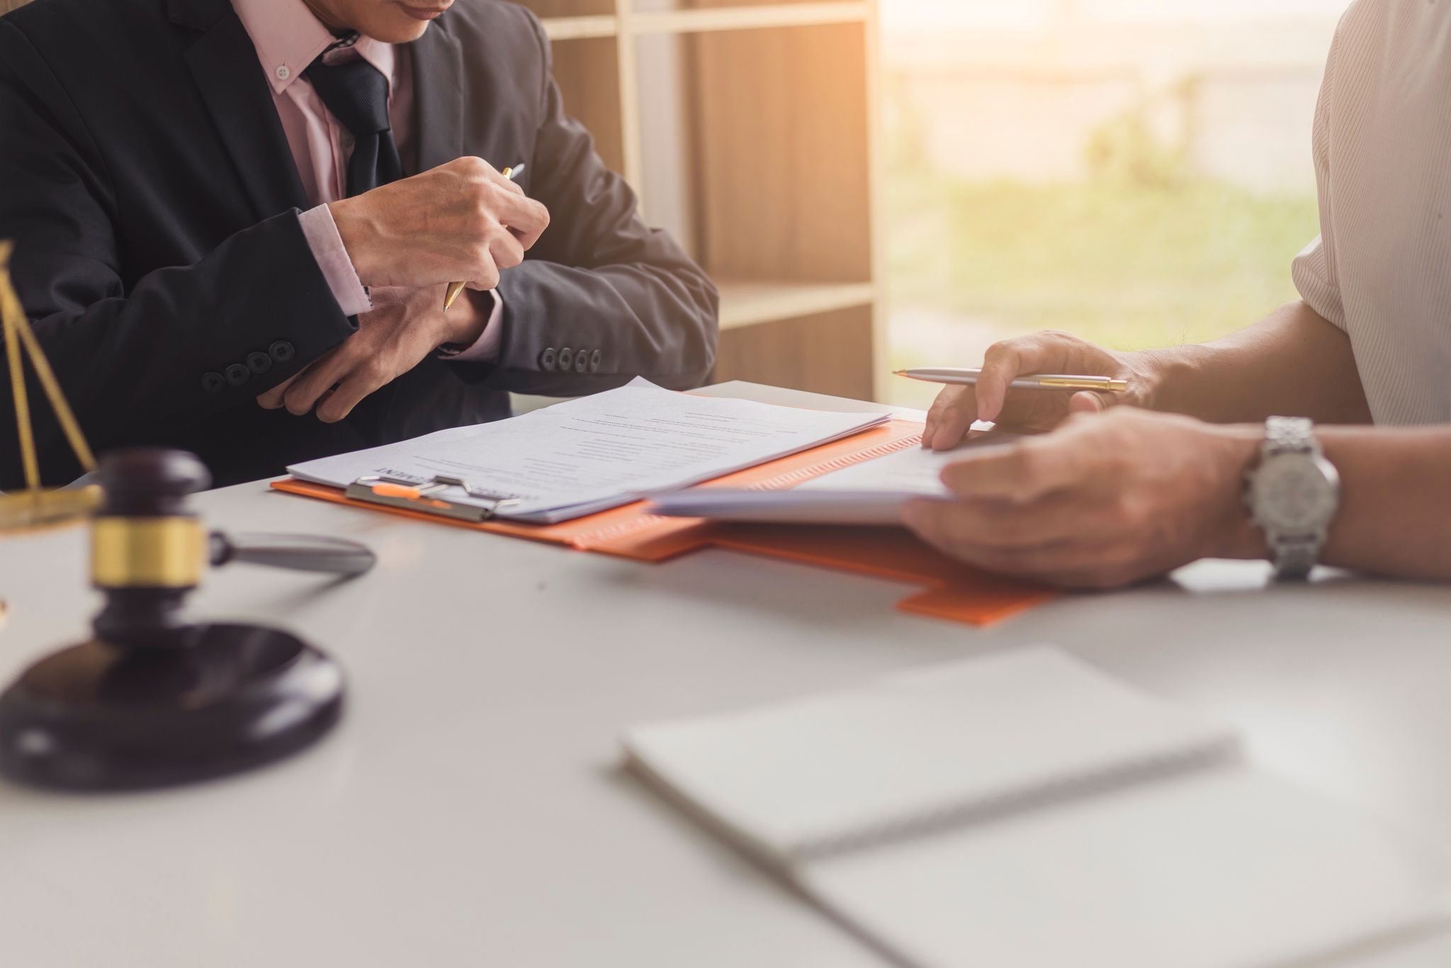
[[[942,469],[963,453],[1019,440],[1007,431],[972,431],[946,451],[911,447],[814,477],[791,491],[701,488],[654,495],[654,514],[779,524],[900,524],[913,498],[948,498]]]

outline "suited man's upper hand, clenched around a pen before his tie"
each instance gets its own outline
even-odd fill
[[[328,208],[364,286],[493,289],[548,226],[548,209],[472,157]]]

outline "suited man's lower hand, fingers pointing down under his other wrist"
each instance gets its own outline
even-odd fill
[[[489,321],[479,303],[490,303],[490,298],[464,298],[444,312],[445,289],[374,289],[373,311],[358,316],[357,332],[257,402],[267,409],[286,406],[296,417],[316,406],[318,419],[332,424],[440,345],[472,344]]]

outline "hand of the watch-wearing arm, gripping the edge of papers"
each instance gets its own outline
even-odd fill
[[[1264,538],[1241,504],[1254,427],[1114,408],[984,448],[943,469],[955,501],[913,501],[905,524],[979,567],[1110,588],[1206,556],[1249,557]]]

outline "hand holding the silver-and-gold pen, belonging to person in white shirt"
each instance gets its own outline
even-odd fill
[[[1127,393],[1084,390],[1010,390],[1029,373],[1075,373],[1111,376],[1129,382]],[[1013,427],[1049,430],[1069,414],[1098,412],[1114,403],[1152,406],[1158,377],[1152,358],[1142,353],[1111,353],[1066,332],[1035,332],[994,343],[982,360],[982,376],[974,386],[948,386],[927,412],[923,447],[956,447],[975,419]]]

